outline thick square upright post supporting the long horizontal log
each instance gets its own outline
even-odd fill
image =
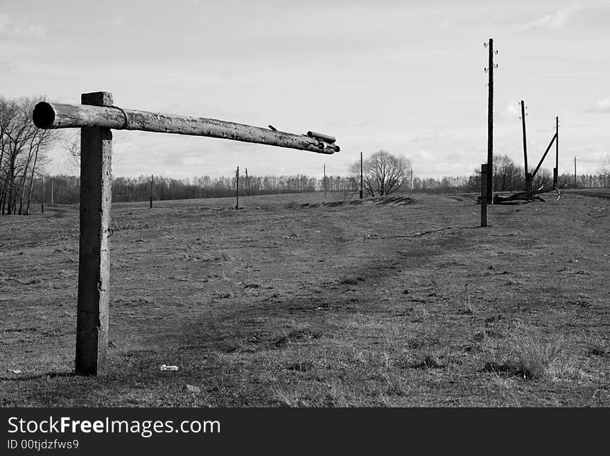
[[[112,94],[82,94],[84,105],[110,106]],[[110,301],[108,231],[112,201],[112,132],[80,130],[80,246],[76,316],[76,373],[105,370]]]

